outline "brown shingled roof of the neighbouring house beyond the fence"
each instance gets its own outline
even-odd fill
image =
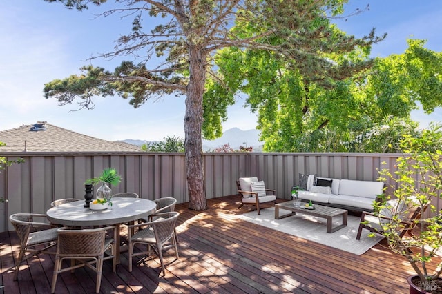
[[[134,152],[141,148],[119,141],[106,141],[59,128],[46,121],[0,131],[3,152]]]

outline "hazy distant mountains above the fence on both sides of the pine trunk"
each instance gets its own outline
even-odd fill
[[[211,141],[202,140],[202,149],[204,151],[208,151],[221,147],[224,144],[229,144],[229,146],[233,149],[239,149],[240,146],[252,146],[253,151],[260,151],[262,150],[263,142],[258,141],[258,138],[258,130],[240,130],[239,128],[230,128],[229,130],[226,130],[224,133],[222,133],[222,136],[218,139],[214,139]],[[143,144],[152,142],[137,139],[126,139],[122,141],[137,146],[142,146]]]

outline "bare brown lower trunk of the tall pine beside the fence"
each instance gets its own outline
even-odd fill
[[[202,96],[206,80],[206,56],[198,46],[189,46],[189,85],[187,86],[186,115],[184,116],[184,153],[189,187],[189,208],[207,209],[202,160]]]

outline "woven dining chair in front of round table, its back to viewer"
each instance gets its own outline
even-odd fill
[[[107,231],[113,231],[113,238],[107,237]],[[113,259],[112,270],[115,273],[117,263],[117,255],[114,246],[115,239],[117,238],[116,234],[117,230],[115,230],[115,226],[83,230],[73,230],[67,227],[59,228],[51,293],[55,292],[59,273],[74,271],[75,268],[80,268],[82,266],[87,266],[97,273],[95,292],[99,293],[99,288],[102,284],[104,260]],[[111,254],[104,256],[104,252],[108,248],[111,248]],[[70,266],[63,267],[64,259],[71,260]]]

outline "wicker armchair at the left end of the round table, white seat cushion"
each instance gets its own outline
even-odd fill
[[[20,253],[14,273],[14,280],[17,280],[21,262],[41,253],[55,254],[55,251],[48,249],[57,244],[57,228],[45,222],[46,215],[44,214],[15,213],[10,215],[9,220],[20,240]],[[41,221],[36,222],[36,220]],[[25,253],[28,255],[25,256]]]

